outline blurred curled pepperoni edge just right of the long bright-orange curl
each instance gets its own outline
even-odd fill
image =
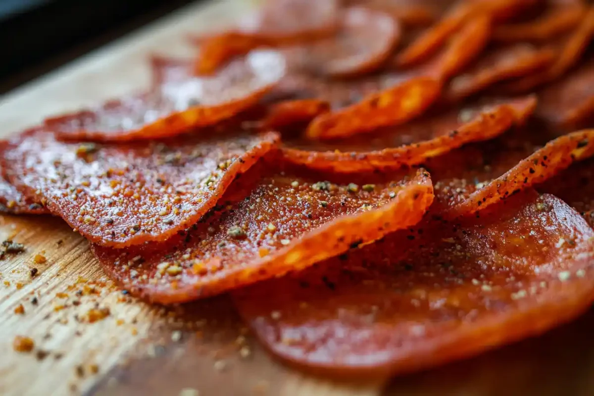
[[[462,100],[500,81],[524,77],[544,69],[554,59],[551,48],[537,49],[526,43],[498,47],[454,77],[444,92],[445,100]]]

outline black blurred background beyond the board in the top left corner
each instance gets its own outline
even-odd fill
[[[0,94],[196,0],[0,0]]]

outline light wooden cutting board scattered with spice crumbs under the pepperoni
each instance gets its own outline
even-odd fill
[[[191,5],[1,97],[0,135],[146,87],[149,53],[191,56],[188,33],[228,23],[249,7]],[[0,261],[1,395],[594,394],[594,313],[387,388],[388,379],[330,381],[271,359],[226,297],[170,309],[130,299],[59,219],[2,216],[0,240],[7,239],[26,251]],[[21,305],[24,313],[15,313]],[[34,349],[15,351],[17,335],[30,337]]]

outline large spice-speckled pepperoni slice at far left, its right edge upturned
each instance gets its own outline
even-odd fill
[[[2,166],[19,191],[91,242],[123,247],[194,224],[277,139],[272,132],[219,133],[98,145],[38,131],[12,140]]]

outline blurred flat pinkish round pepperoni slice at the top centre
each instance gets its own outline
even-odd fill
[[[314,75],[353,77],[378,69],[400,39],[400,24],[390,15],[363,7],[342,11],[333,37],[285,50],[287,67]]]

